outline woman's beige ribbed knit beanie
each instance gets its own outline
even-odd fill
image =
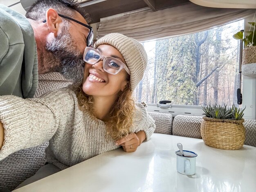
[[[108,44],[115,47],[124,57],[126,65],[130,70],[130,84],[132,91],[143,78],[148,64],[148,57],[144,47],[135,39],[120,33],[109,33],[94,44],[97,49],[99,45]]]

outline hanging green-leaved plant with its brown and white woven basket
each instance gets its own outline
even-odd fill
[[[239,31],[233,38],[243,40],[244,47],[242,57],[242,74],[244,76],[256,77],[256,22],[249,22],[249,31]],[[247,35],[244,37],[244,33]]]

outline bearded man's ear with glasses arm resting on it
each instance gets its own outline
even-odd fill
[[[61,17],[58,15],[55,9],[48,9],[46,11],[46,25],[51,33],[54,33],[54,37],[58,36],[60,30]]]

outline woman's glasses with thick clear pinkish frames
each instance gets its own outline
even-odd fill
[[[125,69],[130,75],[130,70],[123,62],[114,57],[105,57],[101,55],[97,49],[93,49],[92,47],[85,48],[83,60],[91,65],[103,60],[103,70],[107,73],[116,75],[121,71],[121,69]]]

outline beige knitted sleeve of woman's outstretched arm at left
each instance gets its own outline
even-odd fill
[[[0,160],[20,149],[48,141],[74,112],[74,93],[68,89],[49,92],[41,98],[22,99],[0,96],[0,121],[4,143]],[[64,123],[65,125],[65,123]]]

